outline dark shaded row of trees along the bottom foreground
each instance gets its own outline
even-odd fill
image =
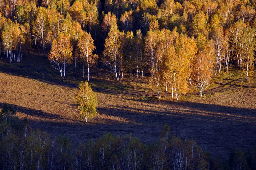
[[[73,148],[73,151],[72,151]],[[74,149],[75,148],[75,149]],[[227,161],[216,161],[193,139],[181,140],[165,124],[160,139],[146,146],[132,135],[107,133],[76,147],[68,137],[51,137],[31,130],[25,118],[4,104],[0,112],[1,169],[255,169],[256,152],[233,151]]]

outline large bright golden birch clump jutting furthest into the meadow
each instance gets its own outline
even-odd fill
[[[186,93],[188,80],[192,72],[192,63],[196,56],[197,47],[195,40],[185,35],[172,33],[173,44],[169,45],[164,54],[164,78],[170,82],[176,100],[179,94]]]

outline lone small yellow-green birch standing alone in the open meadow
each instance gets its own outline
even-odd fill
[[[78,88],[75,101],[81,118],[85,118],[85,121],[88,123],[87,119],[91,119],[97,114],[97,97],[87,81],[82,81]]]

